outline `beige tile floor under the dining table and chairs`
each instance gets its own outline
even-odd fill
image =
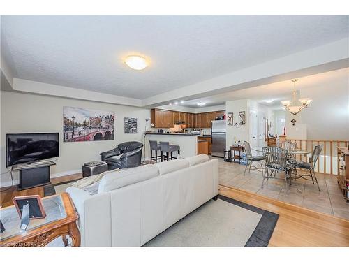
[[[247,170],[244,175],[244,168],[239,163],[228,163],[219,159],[219,183],[349,220],[349,203],[341,195],[334,175],[317,174],[321,191],[311,181],[292,181],[287,194],[284,180],[269,180],[261,188],[262,173],[256,170],[248,173]],[[283,174],[277,177],[283,177]]]

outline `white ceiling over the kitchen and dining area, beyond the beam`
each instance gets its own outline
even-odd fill
[[[299,91],[302,92],[302,89],[325,84],[336,92],[335,87],[332,86],[332,82],[335,82],[338,79],[344,79],[348,82],[349,68],[299,78],[296,83],[296,90],[299,93]],[[225,92],[223,94],[216,94],[214,96],[206,96],[200,99],[193,99],[190,101],[185,101],[182,105],[189,108],[200,108],[200,106],[198,106],[196,103],[205,102],[206,105],[211,106],[225,104],[225,101],[252,99],[258,101],[258,103],[262,105],[269,106],[273,110],[282,110],[283,108],[281,101],[292,100],[292,91],[293,83],[290,80],[287,80],[274,82],[268,85],[259,85],[258,87],[240,89],[233,92]]]

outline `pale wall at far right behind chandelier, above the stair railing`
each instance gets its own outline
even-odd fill
[[[349,140],[349,68],[315,75],[299,96],[313,99],[309,108],[293,116],[286,110],[286,135],[297,124],[306,125],[307,139]],[[306,78],[299,80],[303,85]]]

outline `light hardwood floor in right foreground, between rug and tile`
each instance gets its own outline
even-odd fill
[[[269,247],[349,247],[349,221],[241,189],[219,186],[219,194],[279,214]]]

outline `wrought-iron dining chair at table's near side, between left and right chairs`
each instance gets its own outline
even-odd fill
[[[276,178],[276,173],[285,173],[286,189],[291,184],[290,173],[292,166],[288,164],[288,152],[281,147],[263,147],[263,155],[265,157],[265,172],[263,173],[262,188],[265,180]],[[269,173],[270,171],[270,173]],[[273,173],[274,176],[273,176]]]

